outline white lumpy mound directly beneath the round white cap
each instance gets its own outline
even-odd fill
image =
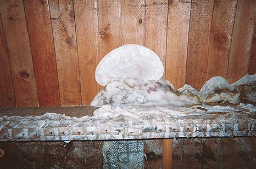
[[[158,105],[158,106],[184,106],[198,104],[195,96],[176,94],[175,89],[168,81],[164,80],[113,80],[106,88],[100,91],[91,106],[112,104],[120,105]]]

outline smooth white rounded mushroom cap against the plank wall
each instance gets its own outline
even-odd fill
[[[163,73],[163,63],[151,49],[127,44],[103,57],[95,77],[98,84],[105,86],[113,79],[159,80]]]

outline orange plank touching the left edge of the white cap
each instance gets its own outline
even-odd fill
[[[97,1],[74,1],[82,104],[90,104],[99,92],[95,69],[100,61]]]

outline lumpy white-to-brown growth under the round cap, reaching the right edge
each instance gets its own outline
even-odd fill
[[[175,90],[167,80],[112,79],[91,106],[184,106],[193,104],[256,104],[256,74],[229,84],[222,77],[209,79],[198,92],[190,85]]]

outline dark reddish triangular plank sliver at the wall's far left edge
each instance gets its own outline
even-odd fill
[[[5,43],[2,19],[0,17],[0,107],[14,107],[15,95],[12,71]]]

